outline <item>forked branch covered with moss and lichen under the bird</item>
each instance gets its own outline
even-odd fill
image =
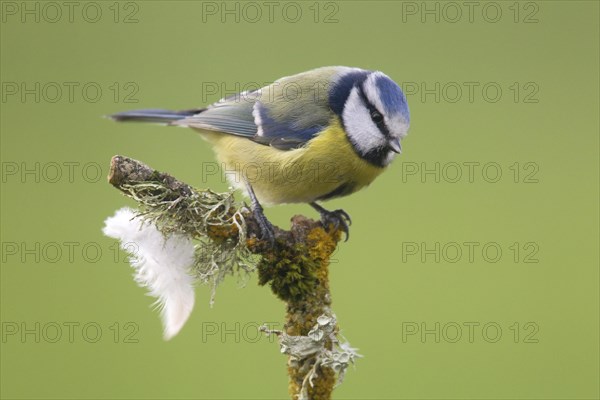
[[[329,259],[340,230],[294,216],[290,230],[275,228],[275,242],[270,244],[259,239],[257,221],[245,204],[234,201],[232,193],[197,190],[123,156],[112,158],[108,181],[136,200],[140,215],[164,234],[183,233],[202,243],[196,270],[199,278],[212,280],[213,296],[225,275],[256,267],[259,284],[269,284],[287,304],[285,331],[275,333],[289,355],[290,396],[331,398],[336,373],[341,378],[357,356],[337,342],[338,326],[330,309]],[[290,343],[308,343],[312,350],[299,353]]]

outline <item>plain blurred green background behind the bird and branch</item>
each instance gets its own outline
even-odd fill
[[[100,231],[117,208],[133,205],[105,182],[111,156],[131,156],[223,191],[227,184],[219,176],[203,181],[200,173],[203,162],[214,160],[211,149],[191,131],[116,125],[102,116],[202,106],[226,94],[207,95],[203,83],[233,90],[236,82],[271,82],[324,65],[379,69],[405,88],[440,85],[439,99],[421,92],[408,96],[411,129],[391,168],[367,190],[328,204],[343,207],[354,221],[350,241],[335,254],[331,286],[343,334],[365,356],[335,397],[598,398],[598,3],[517,3],[516,23],[513,2],[494,3],[502,10],[496,23],[483,17],[486,3],[478,3],[473,22],[466,6],[454,3],[463,11],[454,23],[448,21],[453,9],[440,8],[439,22],[431,15],[423,22],[420,15],[403,13],[407,3],[330,3],[317,4],[317,23],[313,2],[296,3],[303,12],[297,23],[286,21],[281,8],[273,22],[266,15],[256,23],[243,15],[239,22],[234,16],[203,21],[203,4],[191,1],[121,3],[119,23],[113,21],[113,2],[97,2],[103,12],[97,23],[82,18],[85,2],[78,3],[73,22],[65,15],[52,23],[3,14],[3,84],[78,82],[81,89],[96,82],[103,89],[97,102],[86,101],[77,89],[72,102],[66,93],[50,102],[50,92],[36,102],[33,95],[8,95],[9,86],[3,86],[3,398],[286,398],[285,358],[275,342],[254,340],[257,325],[280,326],[283,319],[284,305],[268,288],[258,287],[253,276],[240,289],[231,278],[210,309],[209,290],[199,287],[190,320],[164,342],[152,299],[131,279],[123,253],[116,253],[115,262],[114,241]],[[486,10],[494,18],[495,9]],[[46,11],[46,19],[53,18]],[[133,11],[138,22],[123,23]],[[337,22],[324,23],[330,12]],[[116,99],[109,88],[115,82],[121,88]],[[125,101],[128,82],[139,89],[136,104]],[[463,88],[457,101],[453,82]],[[472,101],[464,82],[479,85]],[[490,82],[502,89],[498,101],[482,94]],[[520,87],[516,98],[514,82]],[[488,94],[494,96],[491,89]],[[52,163],[65,162],[79,163],[73,182],[66,167],[51,182]],[[473,182],[466,168],[455,183],[450,169],[439,182],[432,175],[406,174],[415,166],[468,162],[480,163]],[[516,162],[517,183],[510,168]],[[39,182],[34,175],[7,173],[36,163]],[[92,163],[87,181],[86,163]],[[498,182],[482,176],[486,163],[500,166]],[[95,179],[96,165],[101,179]],[[488,172],[485,177],[493,178]],[[531,179],[537,182],[524,182]],[[281,226],[295,213],[316,216],[305,205],[267,210]],[[77,243],[73,259],[65,242]],[[421,253],[406,253],[407,243],[421,250],[439,243],[450,251],[448,243],[464,242],[479,243],[473,262],[466,254],[450,262],[454,253],[448,252],[436,262],[433,255],[424,254],[423,261]],[[501,247],[498,262],[483,258],[488,242]],[[515,242],[533,246],[521,249],[517,262],[509,248]],[[25,251],[36,243],[39,261]],[[52,243],[65,250],[57,262],[50,262],[56,258]],[[87,259],[81,251],[86,244]],[[12,245],[16,254],[7,251]],[[97,257],[96,248],[102,251]],[[538,262],[524,262],[532,249]],[[64,325],[69,322],[79,324],[72,343]],[[127,322],[138,328],[137,343],[125,343],[132,332]],[[468,322],[479,324],[472,343]],[[9,334],[11,327],[33,329],[35,323],[47,329],[39,343],[34,334]],[[54,323],[63,336],[50,343]],[[86,323],[102,328],[96,343],[82,336]],[[433,334],[403,340],[413,323],[419,329],[421,323],[427,329],[439,323],[439,343]],[[456,343],[454,323],[462,327]],[[488,323],[502,328],[495,343],[494,329],[482,334]],[[219,334],[207,335],[215,327]],[[223,327],[238,338],[221,338]],[[93,329],[88,333],[95,336]]]

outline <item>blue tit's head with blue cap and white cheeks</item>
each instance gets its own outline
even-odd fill
[[[386,167],[402,151],[408,104],[400,86],[383,72],[344,70],[331,86],[329,103],[361,158]]]

